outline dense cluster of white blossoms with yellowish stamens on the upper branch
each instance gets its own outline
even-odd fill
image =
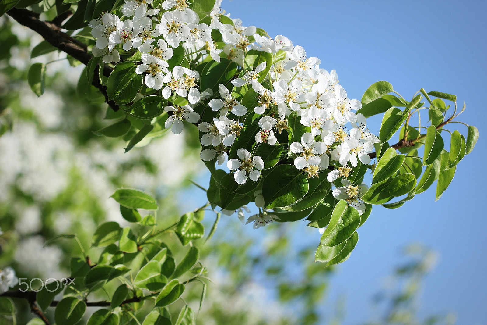
[[[142,64],[137,66],[136,73],[145,74],[145,84],[160,90],[159,94],[165,99],[173,94],[187,98],[188,105],[164,108],[170,115],[166,127],[179,134],[184,120],[199,122],[199,131],[205,133],[201,143],[207,146],[201,152],[202,160],[211,161],[216,157],[218,163],[223,164],[226,152],[246,126],[239,118],[244,120],[253,111],[261,116],[258,117],[260,130],[255,135],[257,145],[279,144],[276,135],[289,130],[287,121],[291,114],[309,127],[311,132],[302,134],[300,142],[293,142],[289,147],[294,165],[308,178],[319,177],[320,171],[331,169],[327,180],[335,182],[342,178],[343,183],[352,171],[349,165],[356,167],[358,161],[370,163],[368,153],[374,150],[374,143],[379,140],[367,129],[364,116],[356,114],[361,108],[360,101],[350,100],[338,84],[336,71],[319,68],[321,61],[307,57],[301,46],[294,46],[282,35],[272,39],[257,34],[255,26],[244,27],[240,19],[232,19],[233,24],[222,23],[221,0],[214,4],[210,20],[206,19],[206,22],[210,21],[209,25],[199,23],[198,15],[189,9],[188,0],[165,0],[161,8],[152,8],[152,0],[125,1],[124,21],[106,13],[90,22],[92,35],[96,38],[94,56],[103,56],[107,63],[118,62],[117,47],[124,51],[140,51]],[[160,9],[164,13],[159,14]],[[212,31],[221,34],[225,43],[223,48],[217,48],[211,37]],[[257,93],[255,107],[242,105],[232,95],[232,85],[220,84],[219,94],[215,95],[210,89],[200,92],[199,73],[187,66],[178,65],[169,71],[168,60],[174,54],[173,48],[180,45],[193,63],[208,59],[220,62],[221,57],[225,57],[240,65],[241,78],[233,79],[231,83],[234,87],[251,87]],[[245,69],[245,54],[251,49],[270,53],[272,62]],[[193,108],[210,96],[208,106],[218,111],[219,117],[200,121],[200,115]],[[347,123],[350,126],[347,127]],[[230,170],[235,170],[235,181],[239,184],[246,183],[247,178],[258,181],[260,170],[264,168],[262,158],[244,148],[238,148],[237,152],[240,159],[230,159],[227,163]],[[346,189],[337,187],[334,196],[346,200],[363,213],[365,207],[359,201],[363,191],[345,183]],[[262,223],[257,219],[254,221],[265,225],[269,218],[263,218]]]

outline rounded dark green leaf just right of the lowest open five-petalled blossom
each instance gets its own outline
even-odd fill
[[[308,181],[294,165],[277,165],[262,184],[262,196],[268,209],[288,206],[308,192]]]

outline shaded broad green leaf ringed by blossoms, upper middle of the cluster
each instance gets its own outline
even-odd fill
[[[237,63],[222,58],[220,62],[212,61],[205,65],[200,75],[200,89],[210,88],[218,93],[220,83],[226,85],[237,72]]]

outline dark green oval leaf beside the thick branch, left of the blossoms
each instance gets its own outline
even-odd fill
[[[142,87],[142,75],[135,73],[137,66],[130,61],[117,63],[107,83],[107,95],[109,100],[117,104],[132,102],[140,87]]]

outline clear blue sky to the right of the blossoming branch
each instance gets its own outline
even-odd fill
[[[365,321],[370,297],[401,261],[401,247],[419,242],[439,253],[420,314],[454,311],[457,324],[487,324],[487,2],[224,0],[222,8],[244,26],[303,46],[308,57],[321,59],[320,67],[336,69],[351,99],[385,80],[406,99],[424,87],[466,102],[459,120],[477,126],[480,140],[450,187],[438,202],[433,185],[399,209],[375,207],[352,256],[339,266],[330,297],[347,295],[344,324]],[[368,120],[372,132],[380,119]],[[466,131],[461,124],[450,130],[455,127]]]

